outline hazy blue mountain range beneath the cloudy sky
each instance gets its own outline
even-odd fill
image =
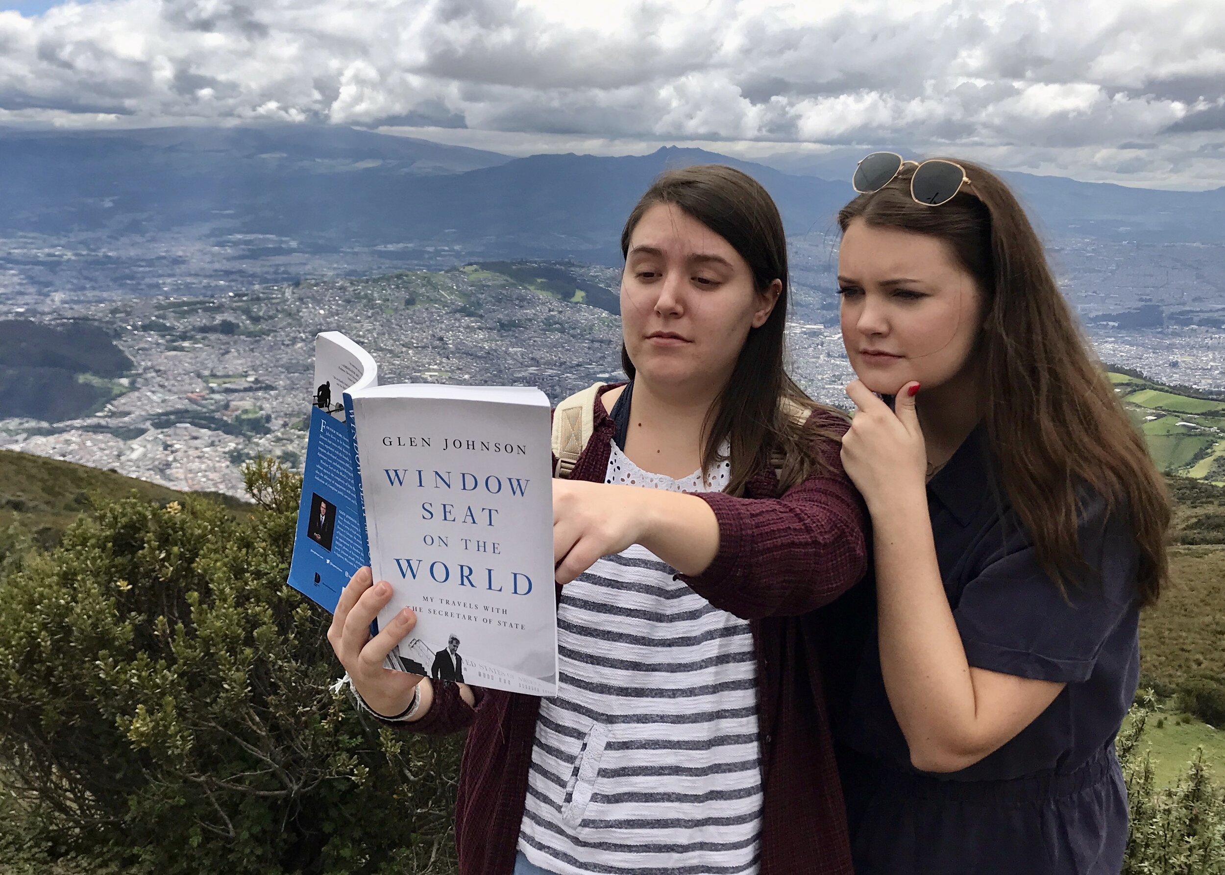
[[[832,230],[854,192],[845,179],[805,170],[844,168],[784,159],[774,157],[800,172],[675,147],[643,156],[511,158],[336,126],[0,127],[0,233],[201,228],[216,237],[292,238],[307,250],[463,244],[494,256],[615,263],[635,200],[662,170],[685,164],[748,172],[774,196],[793,235]],[[1005,175],[1054,237],[1225,244],[1225,189],[1158,191]]]

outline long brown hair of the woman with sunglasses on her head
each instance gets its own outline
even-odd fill
[[[908,164],[883,189],[848,203],[838,224],[845,233],[861,218],[949,246],[984,297],[976,354],[987,439],[1039,560],[1061,588],[1085,570],[1077,525],[1078,490],[1088,487],[1110,511],[1127,515],[1139,547],[1140,604],[1152,604],[1169,575],[1165,480],[1090,354],[1024,210],[993,173],[956,163],[970,184],[948,203],[916,203]]]

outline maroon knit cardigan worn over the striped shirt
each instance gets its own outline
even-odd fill
[[[845,423],[817,412],[807,428],[813,426],[845,429]],[[571,479],[603,483],[611,441],[612,419],[598,401],[592,439]],[[828,440],[820,446],[827,469],[784,495],[772,469],[750,480],[745,498],[699,494],[718,518],[719,550],[704,572],[685,577],[752,630],[764,790],[761,875],[853,873],[817,642],[799,618],[864,576],[865,515],[839,446]],[[540,700],[473,692],[477,705],[469,707],[454,684],[436,685],[425,717],[387,725],[429,734],[468,729],[456,800],[459,873],[512,875]]]

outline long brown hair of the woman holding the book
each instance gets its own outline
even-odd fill
[[[731,471],[725,491],[742,495],[748,480],[767,467],[778,471],[782,489],[790,489],[823,464],[812,446],[812,434],[805,438],[801,420],[806,415],[800,412],[834,408],[809,398],[783,364],[789,277],[778,207],[757,180],[723,164],[666,170],[630,212],[621,232],[622,257],[628,256],[633,229],[657,203],[684,210],[731,244],[748,262],[757,294],[764,294],[775,279],[783,283],[769,317],[748,330],[731,376],[707,414],[702,469],[708,472],[720,461],[719,447],[728,440]],[[624,343],[621,368],[633,379],[636,369]],[[816,436],[838,440],[839,435],[826,429]]]

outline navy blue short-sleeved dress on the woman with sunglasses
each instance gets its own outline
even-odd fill
[[[875,624],[867,626],[835,727],[859,875],[1122,868],[1127,790],[1114,740],[1139,674],[1138,550],[1118,515],[1088,499],[1080,545],[1100,580],[1069,587],[1065,598],[995,483],[979,428],[927,487],[969,664],[1067,686],[984,760],[948,775],[920,772],[884,692]]]

